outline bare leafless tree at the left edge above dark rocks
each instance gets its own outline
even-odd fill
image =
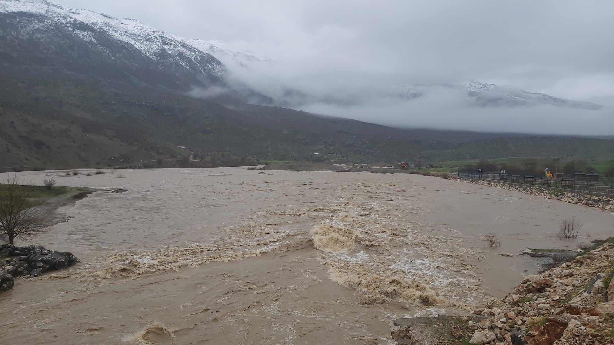
[[[18,184],[17,174],[0,185],[0,233],[14,244],[15,238],[28,238],[44,231],[47,212],[32,198],[31,188]]]

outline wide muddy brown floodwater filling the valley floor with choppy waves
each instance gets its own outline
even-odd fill
[[[0,294],[0,343],[392,344],[397,317],[463,314],[505,296],[538,270],[521,250],[613,233],[609,212],[438,177],[110,172],[18,174],[107,191],[16,243],[82,263]],[[571,217],[583,239],[556,239]]]

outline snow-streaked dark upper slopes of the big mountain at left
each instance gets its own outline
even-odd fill
[[[215,87],[218,96],[221,92],[260,103],[271,101],[237,80],[232,86],[228,82],[228,66],[238,68],[266,58],[219,41],[174,36],[134,18],[114,18],[45,0],[0,0],[0,36],[7,38],[0,47],[0,63],[11,66],[178,91]]]

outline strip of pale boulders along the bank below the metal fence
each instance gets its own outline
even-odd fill
[[[513,190],[543,198],[560,200],[570,204],[581,204],[586,207],[596,207],[605,211],[614,210],[614,197],[591,195],[582,192],[567,192],[564,190],[537,187],[534,185],[504,184],[493,180],[472,180],[461,177],[449,176],[449,179],[462,180],[472,184],[488,185],[491,187]]]

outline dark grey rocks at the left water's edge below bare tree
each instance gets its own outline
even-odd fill
[[[79,258],[70,252],[56,252],[43,246],[0,244],[0,292],[12,289],[15,277],[36,277],[77,262]]]

